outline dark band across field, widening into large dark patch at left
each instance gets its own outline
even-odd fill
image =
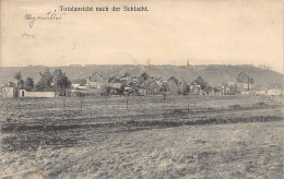
[[[268,122],[283,120],[280,116],[258,116],[247,118],[232,119],[194,119],[194,120],[173,120],[175,114],[167,114],[168,118],[164,120],[129,120],[107,123],[73,123],[73,124],[43,124],[36,122],[26,123],[4,123],[1,132],[3,152],[32,150],[36,151],[42,146],[51,146],[56,148],[74,147],[82,144],[91,144],[103,141],[109,134],[116,132],[133,132],[149,129],[174,128],[180,126],[200,126],[200,124],[222,124],[222,123],[248,123],[248,122]],[[180,115],[180,114],[179,114]],[[170,119],[166,121],[165,119]]]

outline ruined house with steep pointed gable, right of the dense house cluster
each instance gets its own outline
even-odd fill
[[[210,93],[210,85],[204,82],[201,76],[198,76],[197,80],[189,85],[189,94],[191,95],[209,95]]]

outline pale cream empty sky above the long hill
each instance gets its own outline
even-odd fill
[[[283,72],[281,0],[1,1],[0,65],[265,64]],[[147,12],[60,12],[147,7]],[[51,11],[51,12],[50,12]],[[50,13],[49,13],[50,12]],[[61,15],[60,21],[26,14]]]

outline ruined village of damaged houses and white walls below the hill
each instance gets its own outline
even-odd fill
[[[61,72],[61,70],[59,70]],[[61,72],[62,73],[62,72]],[[61,74],[60,73],[60,74]],[[20,73],[21,74],[21,73]],[[67,77],[67,76],[66,76]],[[21,79],[21,77],[20,77]],[[67,77],[68,79],[68,77]],[[31,77],[28,79],[31,81]],[[16,84],[17,83],[17,84]],[[246,72],[236,74],[235,79],[224,82],[218,86],[211,86],[202,76],[193,81],[186,81],[182,76],[170,76],[162,79],[151,76],[147,72],[140,75],[132,75],[131,72],[103,76],[99,72],[93,72],[85,80],[73,80],[67,87],[55,90],[49,87],[37,90],[24,87],[24,82],[19,86],[19,82],[9,82],[1,87],[2,97],[79,97],[79,96],[146,96],[146,95],[269,95],[281,96],[283,91],[277,86],[268,91],[255,88],[253,77]],[[46,82],[43,82],[46,83]]]

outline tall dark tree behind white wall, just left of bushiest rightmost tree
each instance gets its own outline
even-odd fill
[[[36,90],[37,91],[51,91],[52,86],[52,74],[49,72],[49,69],[46,68],[40,74],[40,80],[36,84]]]

